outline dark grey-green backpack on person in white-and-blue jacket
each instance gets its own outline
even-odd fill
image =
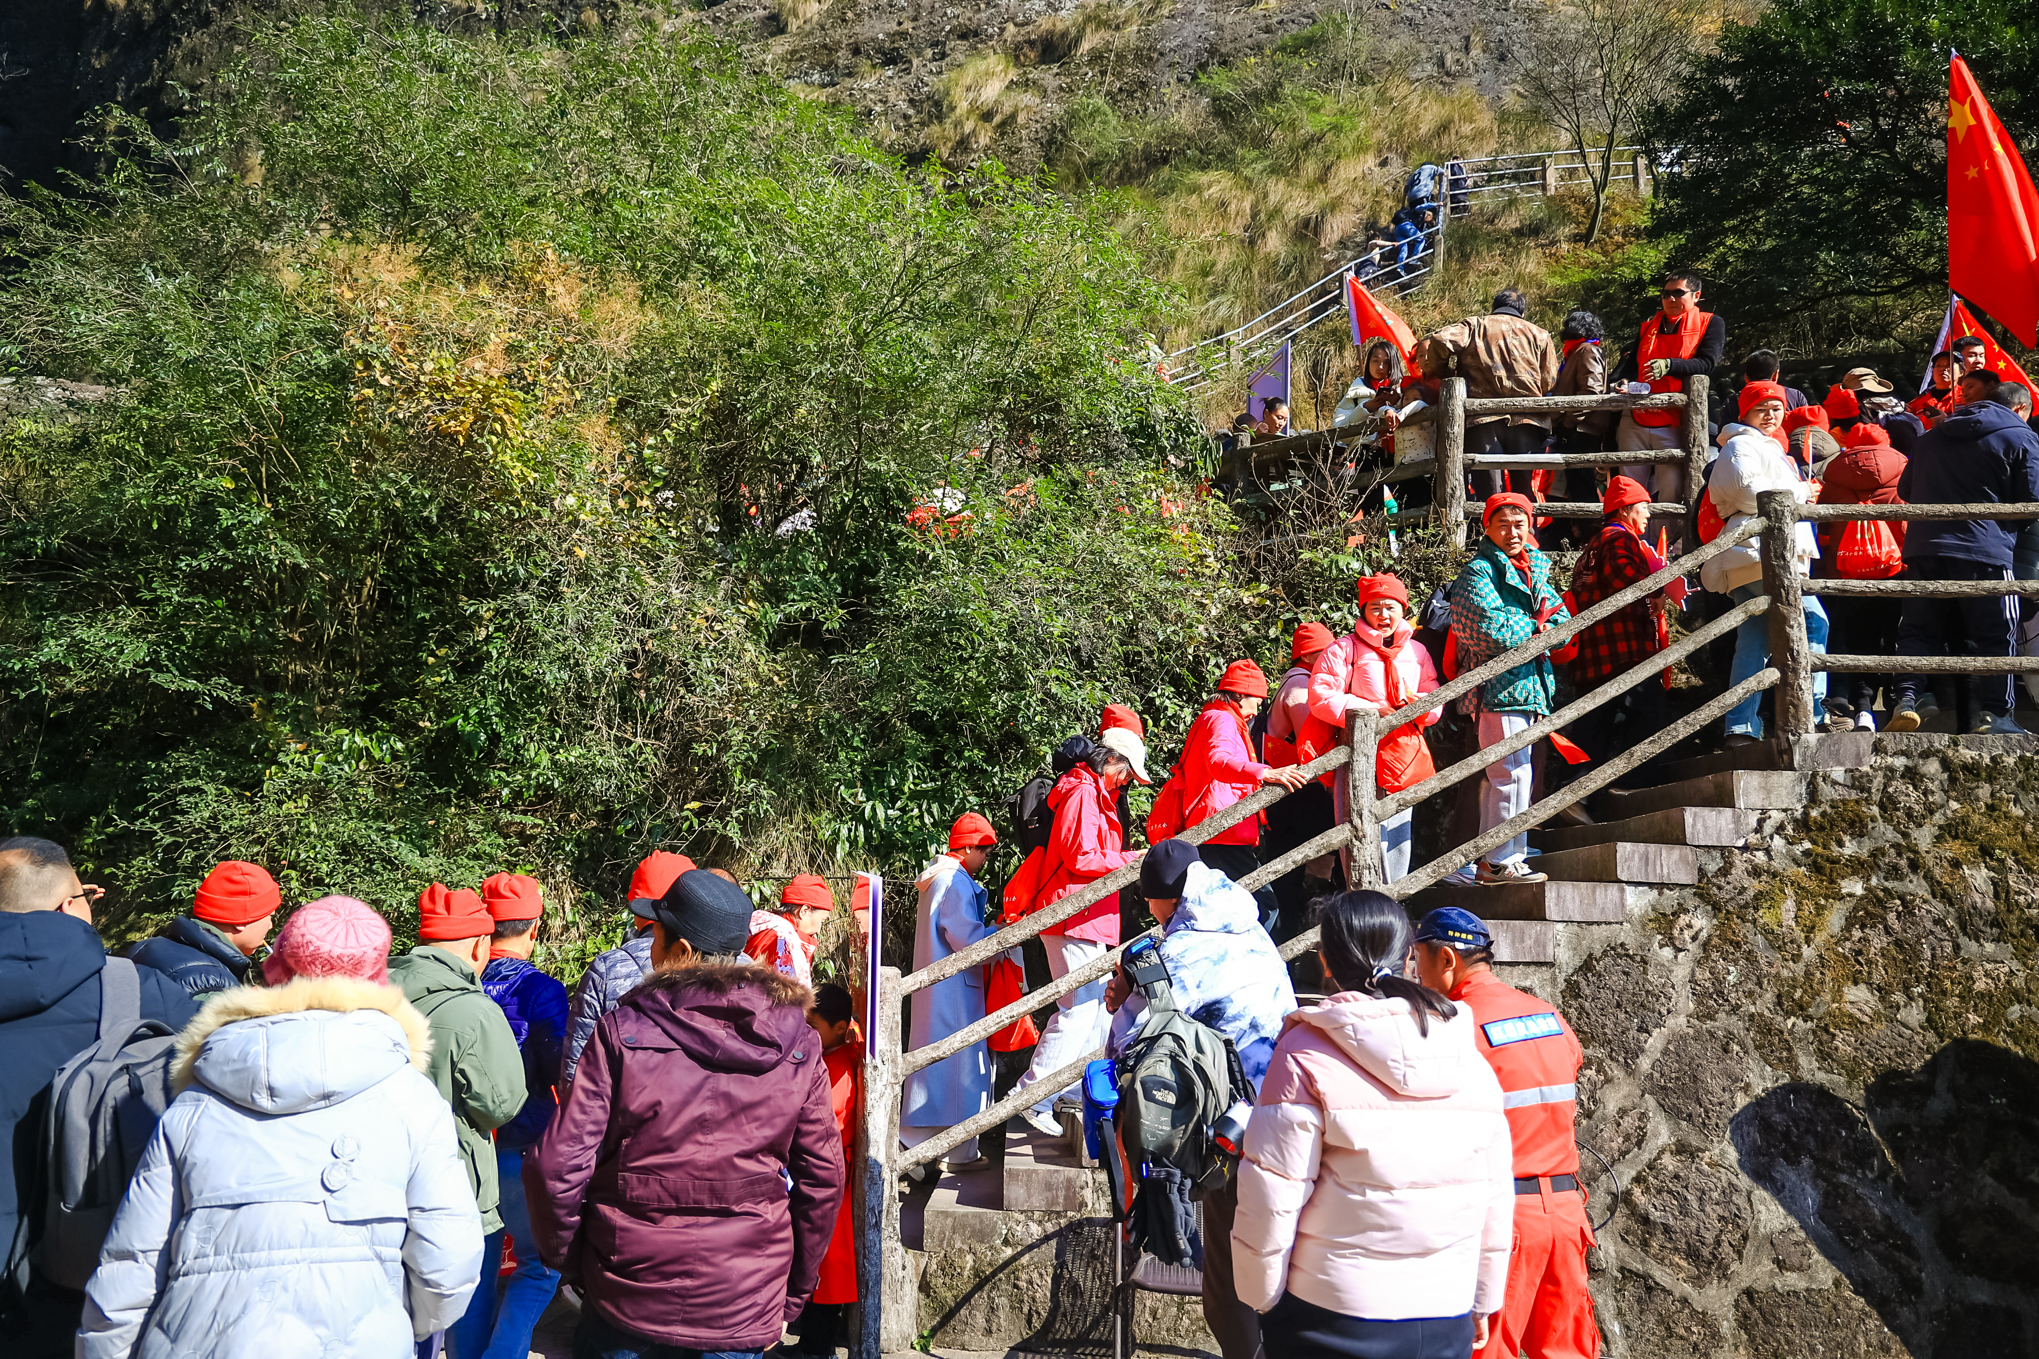
[[[1119,1145],[1138,1167],[1168,1167],[1191,1186],[1221,1177],[1225,1157],[1213,1141],[1217,1122],[1254,1090],[1232,1041],[1174,1004],[1158,949],[1126,955],[1126,969],[1146,994],[1140,1033],[1119,1057]]]

